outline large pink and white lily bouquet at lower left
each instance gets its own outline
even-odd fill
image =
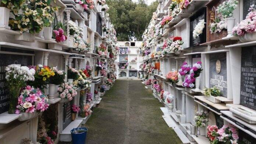
[[[20,112],[33,113],[35,111],[43,112],[49,104],[47,96],[40,89],[34,89],[31,86],[26,86],[18,97],[18,105],[15,114]]]

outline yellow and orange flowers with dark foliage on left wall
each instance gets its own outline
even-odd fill
[[[29,80],[28,85],[39,88],[43,91],[49,84],[50,78],[55,75],[53,69],[46,65],[29,66],[30,69],[35,71],[34,80]],[[44,92],[44,91],[43,91]]]

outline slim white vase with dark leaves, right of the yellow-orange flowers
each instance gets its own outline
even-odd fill
[[[65,72],[58,71],[56,67],[51,68],[54,75],[49,78],[49,101],[54,101],[54,94],[57,92],[56,86],[64,83]]]

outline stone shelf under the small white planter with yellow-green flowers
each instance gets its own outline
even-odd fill
[[[204,106],[207,109],[215,112],[218,115],[221,115],[221,110],[229,110],[229,107],[226,106],[224,103],[213,103],[209,100],[206,100],[205,96],[195,96],[195,102],[199,103],[200,105]]]

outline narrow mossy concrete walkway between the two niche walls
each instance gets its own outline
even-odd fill
[[[181,144],[140,80],[116,80],[86,122],[86,144]]]

